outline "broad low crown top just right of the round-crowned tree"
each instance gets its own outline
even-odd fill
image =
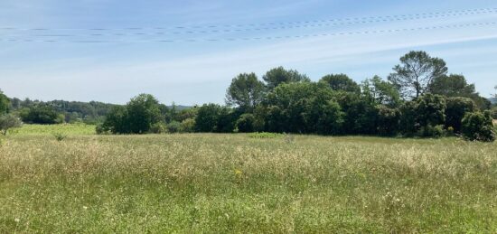
[[[280,84],[310,81],[304,74],[300,74],[296,70],[285,70],[283,67],[267,71],[262,79],[266,81],[268,90],[275,89]]]

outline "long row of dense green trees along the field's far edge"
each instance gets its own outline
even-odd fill
[[[387,79],[374,76],[357,83],[345,74],[329,74],[312,81],[278,67],[262,80],[255,73],[239,74],[231,80],[224,106],[178,109],[141,94],[127,105],[103,109],[106,117],[97,126],[101,134],[461,135],[493,141],[492,118],[497,118],[497,108],[474,84],[448,73],[444,60],[425,51],[402,56]]]

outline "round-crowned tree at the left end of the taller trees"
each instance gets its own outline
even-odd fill
[[[258,80],[255,73],[239,74],[231,80],[230,88],[226,91],[226,103],[238,106],[243,111],[251,111],[265,95],[264,83]]]

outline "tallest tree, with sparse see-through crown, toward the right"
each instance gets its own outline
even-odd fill
[[[419,98],[428,91],[433,80],[447,73],[445,61],[430,57],[426,51],[408,52],[393,70],[389,81],[396,85],[404,98]]]

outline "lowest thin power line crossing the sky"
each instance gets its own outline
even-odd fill
[[[262,41],[262,40],[281,40],[281,39],[302,39],[313,37],[331,37],[343,35],[358,35],[358,34],[379,34],[379,33],[402,33],[402,32],[415,32],[426,31],[435,29],[452,29],[464,28],[474,26],[496,26],[497,22],[488,23],[464,23],[464,24],[449,24],[439,26],[427,26],[417,28],[400,28],[400,29],[387,29],[387,30],[370,30],[359,32],[343,32],[343,33],[315,33],[315,34],[302,34],[302,35],[286,35],[286,36],[267,36],[267,37],[245,37],[245,38],[212,38],[212,39],[184,39],[184,40],[142,40],[142,41],[105,41],[105,40],[74,40],[74,41],[61,41],[61,40],[31,40],[31,39],[0,39],[0,42],[77,42],[77,43],[116,43],[116,42],[241,42],[241,41]]]

